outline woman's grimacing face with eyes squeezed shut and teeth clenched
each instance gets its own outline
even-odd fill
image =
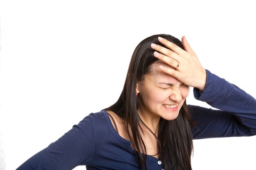
[[[159,65],[172,68],[164,62],[155,62],[153,71],[145,75],[144,81],[137,83],[136,91],[140,93],[141,102],[139,113],[147,117],[173,120],[177,118],[182,104],[189,95],[189,86],[161,71]]]

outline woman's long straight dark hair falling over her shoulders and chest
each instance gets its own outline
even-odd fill
[[[144,79],[144,76],[151,71],[151,66],[158,61],[153,56],[154,50],[151,43],[164,46],[158,41],[158,37],[165,38],[182,49],[182,43],[177,38],[166,35],[152,35],[141,41],[136,47],[130,60],[126,81],[123,91],[115,104],[106,108],[124,120],[124,125],[131,140],[131,144],[137,150],[137,160],[141,169],[146,167],[146,146],[141,137],[142,127],[148,128],[139,117],[139,94],[136,97],[136,83]],[[165,46],[164,46],[165,47]],[[167,47],[166,47],[167,48]],[[157,150],[159,160],[162,161],[165,170],[191,170],[191,153],[193,151],[191,119],[186,101],[180,109],[178,117],[168,121],[160,118],[157,128],[157,136],[150,130],[157,139]]]

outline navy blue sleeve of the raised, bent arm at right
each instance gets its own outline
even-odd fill
[[[207,72],[204,91],[194,88],[194,97],[217,108],[191,106],[194,139],[256,135],[256,100],[234,84]]]

